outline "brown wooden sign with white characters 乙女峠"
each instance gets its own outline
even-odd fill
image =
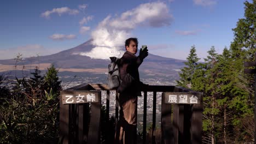
[[[98,103],[101,91],[61,91],[62,104]]]

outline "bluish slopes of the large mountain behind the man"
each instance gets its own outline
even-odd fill
[[[19,65],[29,64],[51,64],[53,63],[57,68],[62,69],[95,69],[103,68],[107,69],[107,65],[110,60],[104,59],[92,59],[88,56],[73,55],[73,53],[89,52],[95,46],[91,44],[92,40],[88,40],[83,44],[80,44],[72,49],[61,51],[53,55],[30,57],[25,58],[19,62]],[[145,73],[152,74],[168,74],[173,69],[180,69],[184,67],[184,61],[173,58],[166,58],[156,56],[149,53],[149,56],[144,60],[143,64],[139,68]],[[15,65],[14,59],[0,60],[2,65]],[[1,65],[0,65],[1,67]]]

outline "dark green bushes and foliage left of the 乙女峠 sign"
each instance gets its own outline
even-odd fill
[[[31,74],[32,77],[29,79],[16,78],[12,89],[5,88],[7,90],[5,94],[10,96],[1,97],[0,143],[57,143],[58,141],[59,95],[57,94],[59,91],[54,93],[53,87],[60,87],[60,83],[46,85],[50,79],[48,77],[48,80],[45,80],[45,77],[40,75],[38,67]],[[57,77],[57,73],[55,76]]]

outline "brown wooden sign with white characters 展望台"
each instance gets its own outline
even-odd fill
[[[172,92],[163,93],[166,104],[200,104],[202,93]]]

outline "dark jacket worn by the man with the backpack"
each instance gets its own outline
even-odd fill
[[[141,96],[141,86],[143,83],[139,81],[138,67],[143,61],[126,51],[119,62],[121,85],[118,87],[120,94],[129,94],[134,96]]]

